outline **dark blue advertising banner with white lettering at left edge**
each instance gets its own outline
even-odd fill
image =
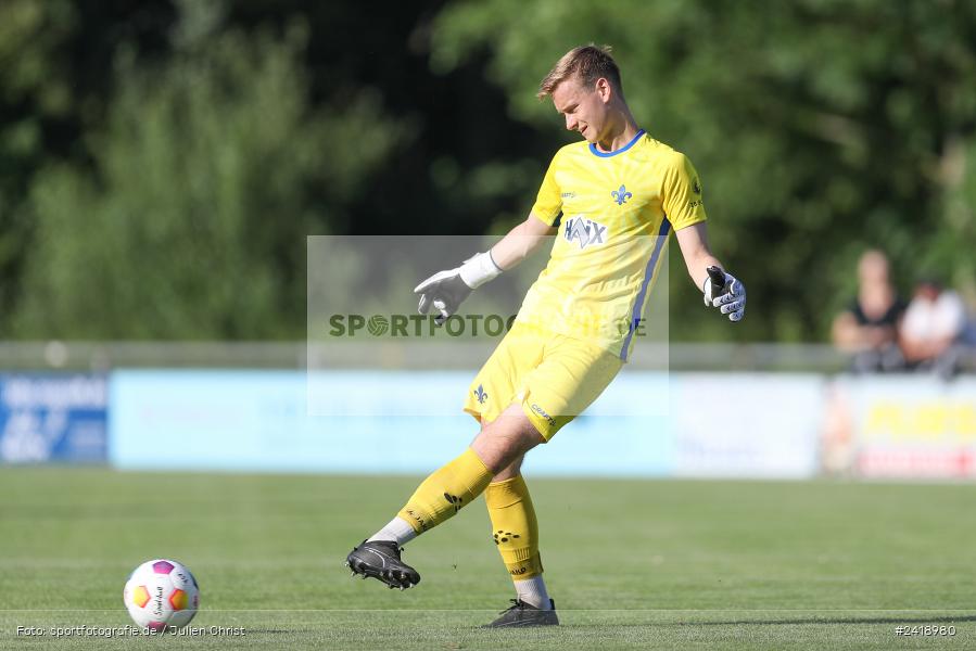
[[[0,462],[106,460],[105,375],[0,374]]]

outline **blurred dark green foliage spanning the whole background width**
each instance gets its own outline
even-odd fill
[[[675,339],[820,340],[867,246],[976,297],[971,2],[10,0],[0,339],[302,337],[306,234],[523,218],[590,41],[749,288],[728,328],[672,252]]]

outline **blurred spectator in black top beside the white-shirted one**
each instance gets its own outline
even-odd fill
[[[834,345],[853,355],[855,373],[897,371],[904,368],[898,346],[898,322],[904,303],[891,285],[888,258],[866,251],[858,261],[858,295],[834,319]]]

